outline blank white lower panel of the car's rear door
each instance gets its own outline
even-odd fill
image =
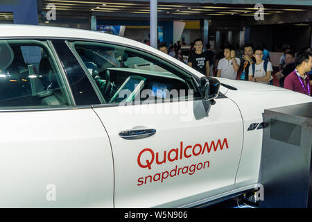
[[[110,142],[91,108],[0,121],[0,207],[114,207]]]

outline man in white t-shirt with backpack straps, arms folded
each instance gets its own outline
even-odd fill
[[[263,50],[261,47],[256,47],[256,49],[254,49],[254,58],[256,58],[256,63],[249,67],[249,80],[252,82],[268,84],[270,80],[272,80],[272,63],[262,59]]]

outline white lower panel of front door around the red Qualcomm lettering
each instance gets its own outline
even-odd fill
[[[182,112],[184,116],[181,112],[174,112],[174,105],[178,105],[178,108],[187,108],[187,112]],[[193,106],[196,108],[194,109]],[[116,207],[157,207],[158,205],[180,207],[193,202],[195,195],[200,194],[202,198],[207,198],[233,189],[243,144],[243,122],[239,109],[231,100],[216,99],[216,104],[211,108],[209,115],[200,118],[196,118],[196,115],[199,115],[196,112],[199,110],[205,112],[200,100],[94,108],[94,110],[103,121],[112,142]],[[150,117],[148,113],[153,110],[155,114]],[[171,110],[171,112],[157,113],[157,110]],[[127,140],[119,137],[121,131],[137,128],[153,128],[157,131],[155,135],[144,139]],[[159,162],[162,162],[164,151],[168,155],[172,149],[178,148],[180,152],[181,147],[185,149],[186,146],[194,147],[196,144],[201,144],[203,147],[205,142],[211,146],[212,141],[217,144],[219,139],[221,143],[224,139],[227,140],[222,150],[216,145],[216,151],[208,153],[207,149],[204,151],[204,148],[200,149],[198,146],[195,152],[202,151],[203,154],[189,158],[183,155],[181,158],[179,154],[179,160],[173,162],[167,157],[164,164],[156,164],[155,159],[151,169],[139,167],[138,159],[143,162],[142,165],[150,159],[148,152],[144,152],[139,157],[139,153],[144,148],[159,153]],[[187,150],[187,155],[190,153],[192,154],[191,148]],[[171,158],[174,157],[175,154],[171,153]],[[157,173],[169,172],[176,166],[178,169],[206,161],[209,161],[209,167],[206,165],[206,169],[196,170],[191,175],[181,173],[182,175],[168,177],[163,182],[157,180],[155,176]],[[146,180],[146,176],[155,176],[157,181],[153,178],[150,182],[150,178]],[[139,178],[144,182],[140,184]]]

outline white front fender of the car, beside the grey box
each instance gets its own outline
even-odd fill
[[[244,121],[243,153],[235,184],[239,188],[259,182],[263,130],[248,131],[250,124],[261,123],[265,109],[309,103],[312,97],[261,83],[228,82],[239,89],[229,90],[226,96],[239,106]]]

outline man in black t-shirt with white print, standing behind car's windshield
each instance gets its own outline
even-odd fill
[[[202,53],[202,40],[197,39],[194,41],[195,51],[191,53],[187,60],[187,65],[196,69],[205,76],[209,76],[209,59],[205,53]]]

